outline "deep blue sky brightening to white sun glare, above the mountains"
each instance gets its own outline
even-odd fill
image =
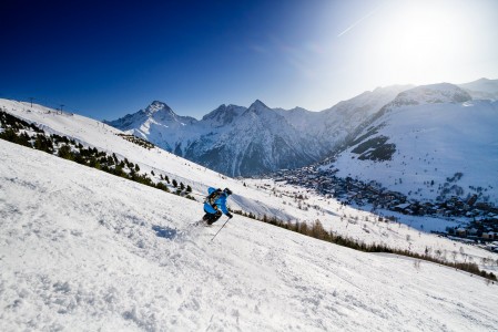
[[[0,4],[0,97],[98,120],[152,101],[328,108],[392,84],[498,79],[498,1],[26,1]]]

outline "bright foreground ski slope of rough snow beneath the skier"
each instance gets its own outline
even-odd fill
[[[498,286],[0,141],[1,331],[496,331]],[[223,219],[222,219],[223,221]]]

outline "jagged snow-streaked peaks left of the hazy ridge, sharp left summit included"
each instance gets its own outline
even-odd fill
[[[305,166],[326,151],[326,145],[261,101],[248,108],[221,105],[201,121],[177,116],[154,102],[144,111],[105,123],[231,176]]]

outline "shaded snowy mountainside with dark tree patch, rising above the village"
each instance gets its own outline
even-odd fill
[[[333,167],[418,200],[478,194],[496,205],[497,126],[497,102],[451,84],[418,86],[386,105]]]

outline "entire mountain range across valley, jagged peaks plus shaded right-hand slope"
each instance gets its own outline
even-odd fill
[[[378,180],[414,199],[433,200],[457,194],[466,198],[476,194],[481,200],[496,201],[495,104],[492,100],[477,100],[476,95],[491,93],[497,81],[378,87],[322,112],[271,108],[261,101],[250,107],[221,105],[201,121],[179,116],[164,103],[154,102],[145,110],[108,123],[230,176],[257,176],[332,163],[342,176]],[[466,122],[474,132],[468,133]],[[397,159],[400,142],[407,142],[408,133],[415,128],[427,133],[425,137],[430,139],[411,137],[415,147],[406,146],[404,159]],[[486,136],[478,137],[479,133]],[[440,162],[420,170],[419,163],[427,159],[426,154]],[[342,157],[333,162],[337,156]],[[376,175],[379,167],[384,168]],[[478,172],[486,175],[479,178]],[[446,180],[455,178],[455,174],[464,174],[459,184]]]

